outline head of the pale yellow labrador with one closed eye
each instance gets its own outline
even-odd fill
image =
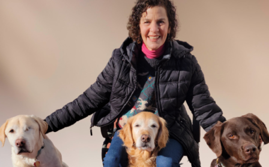
[[[43,145],[47,128],[47,123],[34,115],[10,118],[0,127],[2,147],[7,137],[15,154],[27,157],[27,154],[33,153],[36,145]]]

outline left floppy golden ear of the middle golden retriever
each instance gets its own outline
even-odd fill
[[[134,117],[130,117],[127,124],[120,130],[119,137],[123,140],[126,147],[131,148],[134,145],[133,135],[132,135],[132,122]]]

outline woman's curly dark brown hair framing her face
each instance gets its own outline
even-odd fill
[[[140,43],[142,38],[140,36],[140,18],[142,13],[146,11],[148,7],[162,6],[166,9],[167,17],[169,20],[170,27],[170,37],[168,40],[173,40],[178,31],[179,24],[176,14],[176,8],[173,5],[173,2],[170,0],[137,0],[135,6],[132,9],[132,14],[129,16],[129,21],[127,24],[127,29],[129,30],[129,36]],[[168,36],[167,36],[168,38]]]

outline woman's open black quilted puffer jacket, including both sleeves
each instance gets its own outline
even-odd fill
[[[50,131],[58,131],[93,113],[93,125],[105,126],[115,121],[129,102],[136,87],[136,58],[141,45],[127,38],[115,49],[97,81],[73,102],[48,116]],[[224,122],[205,83],[193,47],[186,42],[172,41],[160,61],[155,75],[155,96],[159,116],[167,122],[170,137],[184,148],[192,167],[200,167],[199,148],[193,140],[191,121],[180,107],[187,104],[200,125],[209,131],[217,122]],[[98,111],[98,112],[97,112]]]

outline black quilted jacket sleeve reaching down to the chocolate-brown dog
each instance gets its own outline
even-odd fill
[[[210,96],[204,74],[195,56],[192,56],[191,63],[192,78],[186,102],[196,120],[208,132],[218,121],[224,122],[226,119],[222,116],[220,107]]]

